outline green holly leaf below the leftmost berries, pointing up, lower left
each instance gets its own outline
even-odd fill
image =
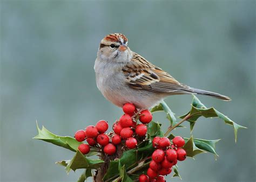
[[[67,173],[69,173],[71,169],[73,171],[77,169],[98,169],[102,163],[104,163],[104,160],[86,158],[83,153],[77,150],[76,155],[71,159],[70,163],[66,165],[65,169]]]

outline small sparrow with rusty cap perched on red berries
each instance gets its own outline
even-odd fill
[[[97,87],[118,107],[133,103],[150,109],[169,95],[199,94],[230,101],[230,97],[180,83],[163,69],[130,50],[122,33],[107,34],[99,44],[95,60]]]

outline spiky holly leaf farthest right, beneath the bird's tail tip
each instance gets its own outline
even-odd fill
[[[201,116],[204,116],[206,118],[207,117],[219,117],[226,124],[232,125],[233,129],[234,129],[235,142],[237,142],[238,129],[246,128],[246,127],[243,127],[242,125],[239,125],[239,124],[233,122],[230,118],[228,118],[224,114],[220,113],[218,110],[214,109],[213,107],[206,108],[204,106],[204,104],[201,103],[200,100],[194,95],[193,95],[193,100],[192,100],[192,108],[187,114],[191,115],[191,117],[187,120],[188,122],[190,122],[191,132],[193,131],[195,122]],[[187,114],[180,116],[180,118],[184,118]]]

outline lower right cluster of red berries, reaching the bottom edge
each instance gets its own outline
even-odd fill
[[[141,174],[139,182],[165,181],[164,176],[172,172],[172,166],[176,165],[178,160],[186,159],[186,151],[181,148],[185,141],[180,136],[174,137],[172,143],[167,137],[154,137],[152,145],[156,150],[152,153],[147,175]]]

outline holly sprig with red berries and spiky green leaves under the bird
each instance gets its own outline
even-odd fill
[[[220,139],[193,138],[193,128],[199,117],[219,117],[234,130],[235,142],[238,129],[245,128],[220,113],[213,107],[207,108],[193,95],[191,109],[178,119],[165,102],[151,110],[137,110],[132,103],[123,106],[124,114],[113,123],[100,120],[84,130],[78,130],[75,137],[58,136],[37,125],[38,135],[34,138],[62,146],[75,152],[70,160],[56,164],[64,166],[67,173],[82,169],[78,181],[92,177],[93,181],[165,181],[165,176],[180,177],[177,163],[186,157],[200,153],[218,156],[215,144]],[[170,127],[164,131],[160,122],[152,121],[152,113],[163,111]],[[180,121],[178,121],[180,120]],[[191,136],[174,136],[171,131],[190,123]]]

